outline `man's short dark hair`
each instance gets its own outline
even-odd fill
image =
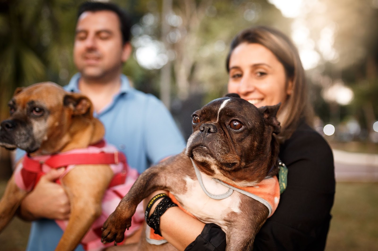
[[[122,34],[122,44],[125,44],[130,41],[131,37],[131,20],[129,15],[119,8],[114,3],[103,3],[103,2],[84,2],[79,6],[79,11],[77,12],[77,19],[85,11],[113,11],[117,14],[119,18],[119,23],[121,24],[121,34]]]

